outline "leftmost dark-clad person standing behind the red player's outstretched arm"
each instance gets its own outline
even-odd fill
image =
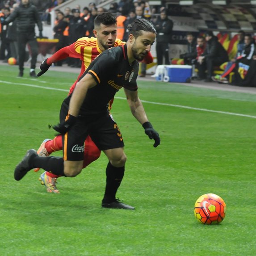
[[[64,13],[59,12],[57,13],[57,24],[53,28],[54,31],[54,38],[59,39],[59,42],[56,45],[56,51],[60,50],[61,48],[65,47],[66,40],[64,38],[64,30],[68,26],[67,21],[64,19]],[[55,63],[56,66],[62,66],[62,61]]]

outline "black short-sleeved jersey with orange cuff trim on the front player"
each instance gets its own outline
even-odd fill
[[[108,104],[122,87],[136,91],[138,62],[129,64],[127,46],[113,47],[105,50],[92,61],[84,74],[93,76],[97,85],[88,89],[79,115],[101,114],[108,111]],[[79,85],[78,85],[79,86]],[[70,100],[71,95],[67,98]]]

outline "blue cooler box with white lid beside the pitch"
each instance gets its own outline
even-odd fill
[[[189,83],[192,76],[190,65],[168,65],[164,71],[164,82]]]

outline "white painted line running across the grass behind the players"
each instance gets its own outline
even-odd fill
[[[29,86],[29,87],[34,87],[34,88],[41,88],[41,89],[46,89],[46,90],[69,92],[69,90],[67,90],[67,89],[59,89],[59,88],[52,88],[52,87],[46,87],[46,86],[39,86],[39,85],[35,85],[35,84],[12,83],[12,82],[1,81],[1,80],[0,80],[0,83],[17,84],[17,85]],[[126,100],[126,98],[124,98],[124,97],[115,97],[115,99]],[[154,101],[144,101],[144,100],[141,100],[141,101],[144,102],[144,103],[149,103],[149,104],[154,104],[154,105],[163,105],[163,106],[169,106],[169,107],[175,107],[175,108],[181,108],[181,109],[192,109],[192,110],[205,111],[205,112],[211,112],[211,113],[219,113],[219,114],[226,114],[226,115],[232,115],[232,116],[239,116],[239,117],[244,117],[244,118],[256,118],[256,116],[245,115],[245,114],[240,114],[240,113],[232,113],[232,112],[212,110],[212,109],[193,108],[193,107],[189,107],[189,106],[175,105],[175,104],[168,104],[168,103],[160,103],[160,102],[154,102]]]

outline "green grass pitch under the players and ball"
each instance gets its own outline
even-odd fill
[[[161,137],[154,148],[118,92],[112,114],[128,159],[117,196],[136,210],[102,209],[104,154],[79,176],[59,178],[60,194],[46,193],[38,181],[42,171],[13,178],[25,152],[54,137],[47,126],[58,122],[76,80],[77,74],[52,69],[30,79],[28,69],[17,78],[17,66],[0,66],[1,256],[255,255],[255,94],[138,81]],[[220,225],[194,218],[194,203],[204,193],[226,202]]]

